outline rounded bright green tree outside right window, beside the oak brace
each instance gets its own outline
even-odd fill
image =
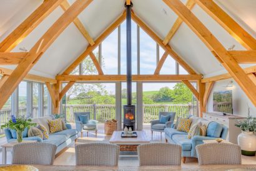
[[[177,83],[170,95],[173,103],[190,103],[192,101],[192,92],[184,83]]]

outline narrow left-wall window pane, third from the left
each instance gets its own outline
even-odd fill
[[[39,83],[32,83],[32,116],[37,118],[39,116]]]

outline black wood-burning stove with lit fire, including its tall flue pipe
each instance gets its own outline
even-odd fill
[[[135,130],[135,106],[132,105],[132,2],[126,7],[126,60],[127,60],[127,105],[124,105],[124,127]]]

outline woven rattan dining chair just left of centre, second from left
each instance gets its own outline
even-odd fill
[[[114,144],[78,144],[76,146],[76,165],[117,166],[119,153],[119,146]]]

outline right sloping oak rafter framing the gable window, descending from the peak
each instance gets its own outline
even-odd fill
[[[194,75],[197,74],[174,50],[170,47],[170,45],[164,45],[162,40],[159,38],[157,34],[155,34],[143,21],[137,17],[134,12],[132,12],[132,20],[140,26],[157,44],[168,52],[169,55],[174,58],[176,62],[178,62],[188,73]]]

